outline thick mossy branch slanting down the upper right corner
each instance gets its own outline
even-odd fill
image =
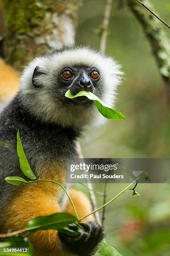
[[[159,72],[165,84],[168,102],[170,103],[170,40],[165,32],[166,27],[164,28],[160,20],[155,18],[155,16],[148,12],[136,0],[125,1],[142,26],[146,38],[150,43]],[[155,13],[154,7],[149,0],[143,0],[142,3]]]

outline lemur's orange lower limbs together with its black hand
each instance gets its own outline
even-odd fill
[[[19,187],[13,202],[5,209],[3,232],[7,232],[8,229],[20,230],[31,218],[36,216],[60,212],[60,206],[53,195],[54,191],[55,193],[61,193],[60,187],[47,182],[37,182]],[[79,217],[91,211],[90,202],[82,192],[72,189],[70,195]],[[69,202],[65,211],[74,214]],[[86,220],[90,220],[90,218]],[[101,227],[92,222],[85,222],[82,225],[84,230],[80,231],[80,235],[75,238],[62,233],[59,233],[58,236],[56,230],[37,231],[30,235],[29,238],[35,247],[36,256],[93,255],[94,248],[103,238]]]

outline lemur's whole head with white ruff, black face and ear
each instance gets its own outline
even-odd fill
[[[65,92],[87,90],[112,107],[121,74],[113,59],[89,47],[54,50],[35,58],[25,68],[20,86],[22,102],[32,115],[45,122],[77,128],[94,118],[99,123],[104,118],[93,101],[86,97],[71,100]]]

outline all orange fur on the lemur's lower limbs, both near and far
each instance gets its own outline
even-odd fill
[[[80,217],[91,211],[90,202],[82,192],[70,189],[69,193]],[[61,195],[60,187],[47,182],[18,187],[13,202],[8,205],[3,215],[3,223],[5,223],[3,233],[9,229],[24,228],[28,221],[36,216],[60,212],[54,194]],[[74,214],[70,201],[67,202],[65,211]],[[92,217],[89,216],[86,220],[92,220]],[[35,248],[36,256],[74,256],[62,247],[56,230],[40,230],[30,235],[29,238]]]

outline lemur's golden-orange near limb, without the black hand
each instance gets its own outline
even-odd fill
[[[20,230],[36,216],[60,212],[57,199],[50,190],[51,185],[43,182],[19,187],[15,199],[10,202],[3,214],[3,232],[9,229]],[[37,231],[30,236],[30,240],[35,247],[36,255],[66,255],[55,230]]]

